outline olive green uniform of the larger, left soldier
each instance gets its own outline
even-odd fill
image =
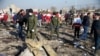
[[[37,27],[37,18],[35,15],[31,15],[28,18],[27,22],[27,37],[35,38],[36,37],[36,27]],[[32,32],[34,30],[34,32]]]

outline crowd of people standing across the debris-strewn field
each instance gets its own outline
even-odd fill
[[[16,13],[13,18],[15,28],[18,29],[18,36],[23,38],[23,28],[27,32],[26,38],[34,39],[37,35],[37,27],[50,26],[50,37],[56,33],[59,38],[59,28],[63,22],[66,22],[66,26],[72,25],[74,29],[74,40],[87,40],[88,33],[94,34],[95,50],[100,49],[100,13],[94,13],[93,17],[90,17],[91,13],[65,13],[62,16],[60,12],[34,12],[32,9],[21,9]],[[65,18],[65,20],[63,19]],[[0,13],[0,22],[6,23],[8,19],[7,13]],[[92,26],[90,20],[93,19]],[[71,28],[71,27],[70,27]],[[84,29],[83,33],[80,34],[81,28]],[[89,32],[89,28],[91,28]]]

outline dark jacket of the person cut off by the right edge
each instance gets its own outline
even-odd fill
[[[91,33],[100,37],[100,20],[94,20],[92,23]]]

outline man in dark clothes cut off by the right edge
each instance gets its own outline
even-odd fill
[[[92,23],[91,34],[94,33],[96,51],[100,50],[100,14],[95,13],[95,19]]]

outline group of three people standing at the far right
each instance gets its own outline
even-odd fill
[[[94,13],[93,14],[93,21],[92,24],[90,24],[90,13],[87,13],[86,15],[82,16],[83,18],[80,17],[79,14],[75,15],[73,24],[72,26],[74,27],[74,36],[76,37],[75,39],[79,40],[87,40],[88,38],[88,33],[90,33],[90,37],[92,38],[91,35],[94,34],[94,46],[95,46],[95,52],[100,49],[100,13]],[[81,27],[83,28],[82,34],[80,34],[80,29]],[[89,28],[91,29],[89,31]]]

